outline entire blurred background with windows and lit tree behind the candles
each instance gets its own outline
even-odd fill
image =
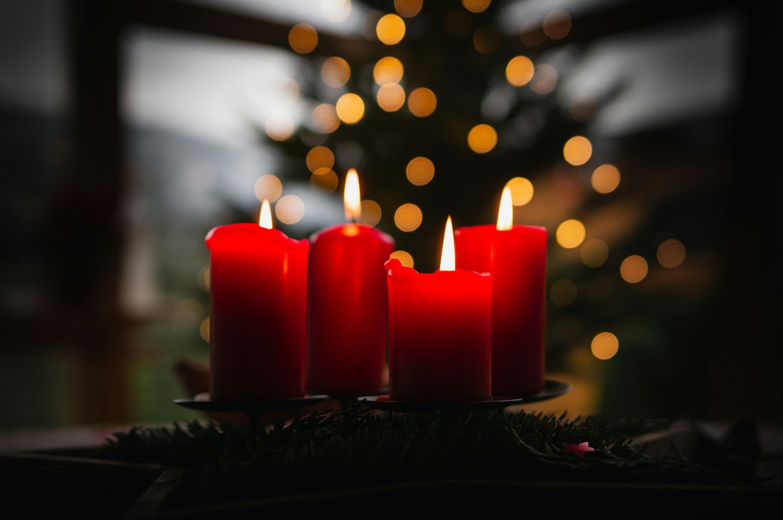
[[[781,418],[775,21],[713,0],[0,6],[0,427],[192,417],[214,226],[546,226],[578,413]],[[547,406],[538,406],[536,410]]]

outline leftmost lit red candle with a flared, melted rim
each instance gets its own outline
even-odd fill
[[[212,399],[281,399],[305,393],[307,240],[258,224],[207,234]]]

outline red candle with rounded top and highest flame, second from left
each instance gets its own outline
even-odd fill
[[[345,179],[346,218],[358,218],[359,178]],[[394,240],[343,224],[310,237],[308,388],[367,395],[386,386],[386,271]]]

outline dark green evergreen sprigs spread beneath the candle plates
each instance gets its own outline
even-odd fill
[[[531,413],[365,413],[353,403],[336,413],[298,415],[247,432],[197,421],[133,428],[110,439],[103,456],[186,468],[175,500],[240,500],[388,482],[471,478],[609,482],[726,482],[673,450],[664,459],[630,446],[612,422]],[[563,442],[597,451],[560,453]]]

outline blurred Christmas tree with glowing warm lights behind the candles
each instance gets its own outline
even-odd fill
[[[330,3],[334,9],[351,5]],[[555,9],[539,20],[524,20],[521,32],[505,34],[502,2],[353,0],[353,5],[369,11],[366,41],[341,49],[342,55],[312,52],[323,43],[309,25],[290,31],[290,47],[308,63],[298,91],[314,108],[293,133],[288,125],[267,125],[269,141],[283,159],[281,174],[309,179],[313,190],[336,190],[338,197],[345,172],[356,168],[362,222],[391,233],[395,255],[409,265],[415,261],[422,272],[437,266],[446,216],[453,216],[455,226],[494,222],[500,193],[509,184],[515,222],[547,226],[550,233],[547,370],[595,367],[597,359],[612,358],[620,331],[642,352],[626,362],[666,366],[666,348],[677,347],[655,350],[668,345],[669,335],[655,328],[655,316],[671,315],[667,323],[677,330],[677,308],[671,294],[644,298],[634,285],[648,273],[643,255],[655,258],[657,252],[662,265],[674,267],[684,247],[662,235],[665,229],[655,229],[658,222],[640,223],[635,203],[607,204],[617,196],[619,169],[596,161],[590,140],[582,136],[605,99],[557,96],[568,67],[553,67],[544,59],[551,53],[539,50],[544,42],[568,37],[568,14]],[[576,44],[566,50],[561,60],[581,52]],[[272,184],[270,191],[279,193]],[[605,224],[595,226],[604,235],[586,232],[582,221],[591,217]],[[698,352],[689,355],[698,361]],[[691,365],[686,360],[679,367],[687,373]],[[668,369],[669,377],[678,377]],[[635,369],[615,371],[622,385],[640,377]],[[662,402],[652,390],[648,397],[635,395],[633,403],[619,395],[619,406]],[[680,411],[676,401],[661,411]]]

